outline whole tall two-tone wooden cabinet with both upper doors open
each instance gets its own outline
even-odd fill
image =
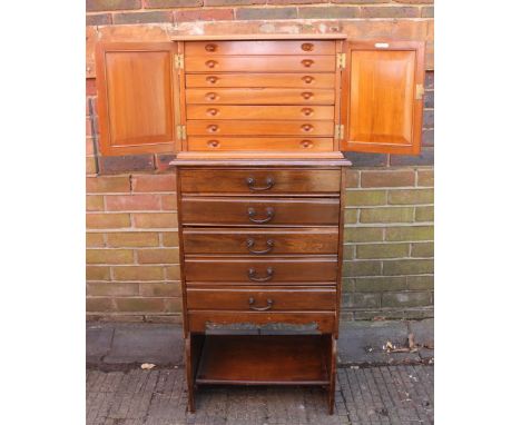
[[[346,167],[420,152],[423,43],[341,34],[99,43],[102,155],[175,152],[188,404],[320,385],[334,409]]]

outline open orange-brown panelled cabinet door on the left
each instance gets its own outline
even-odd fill
[[[102,155],[173,152],[176,42],[110,42],[96,50]],[[178,102],[177,102],[178,105]]]

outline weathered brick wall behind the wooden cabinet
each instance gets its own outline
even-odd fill
[[[430,317],[433,309],[432,0],[87,0],[87,316],[180,322],[171,156],[97,155],[97,40],[174,34],[342,32],[426,41],[419,157],[354,154],[346,187],[343,317]]]

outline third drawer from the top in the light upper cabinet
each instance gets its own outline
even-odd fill
[[[334,73],[187,73],[187,88],[196,87],[284,87],[333,89]]]

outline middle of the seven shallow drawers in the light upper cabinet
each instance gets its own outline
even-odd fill
[[[187,103],[334,105],[333,89],[186,89]]]

